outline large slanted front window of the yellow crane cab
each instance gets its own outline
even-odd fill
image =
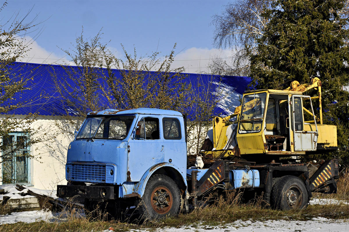
[[[239,133],[255,133],[262,129],[267,93],[244,96]]]

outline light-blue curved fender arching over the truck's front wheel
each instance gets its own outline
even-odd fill
[[[134,185],[133,192],[138,193],[142,197],[144,194],[144,191],[146,190],[146,185],[148,183],[149,178],[155,173],[156,170],[163,168],[163,167],[171,167],[173,169],[176,169],[178,171],[178,173],[180,174],[180,176],[182,177],[183,183],[185,184],[185,186],[187,186],[187,183],[185,181],[186,180],[185,174],[182,173],[180,171],[180,169],[177,166],[173,165],[172,163],[163,162],[163,163],[158,163],[158,164],[154,165],[153,167],[149,168],[142,176],[141,181]]]

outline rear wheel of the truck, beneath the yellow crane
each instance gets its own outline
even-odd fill
[[[298,177],[283,176],[274,184],[271,200],[275,209],[302,209],[308,203],[308,192]]]

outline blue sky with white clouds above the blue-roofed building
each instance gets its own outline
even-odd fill
[[[4,0],[0,0],[1,3]],[[68,49],[84,27],[85,37],[92,37],[103,27],[103,40],[111,40],[109,48],[122,56],[120,43],[127,51],[136,47],[139,55],[171,51],[177,43],[176,66],[187,72],[205,68],[213,56],[227,57],[213,45],[212,16],[220,14],[228,1],[18,1],[8,0],[1,11],[1,21],[13,14],[29,19],[38,14],[36,22],[43,31],[29,54],[32,63],[50,63],[64,57],[58,47]],[[29,34],[33,37],[34,34]],[[49,58],[47,60],[39,58]],[[183,61],[196,59],[196,61]],[[203,69],[202,69],[203,70]],[[202,71],[201,70],[201,71]]]

